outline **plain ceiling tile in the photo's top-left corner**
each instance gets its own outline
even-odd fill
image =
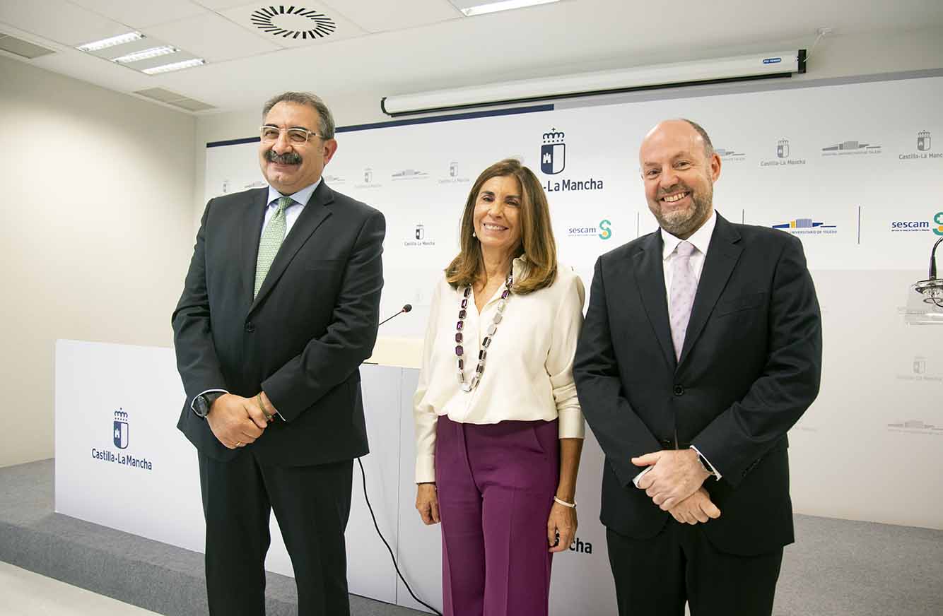
[[[0,2],[0,22],[70,47],[131,30],[64,0]]]

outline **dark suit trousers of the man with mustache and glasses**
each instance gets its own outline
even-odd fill
[[[265,614],[270,511],[294,569],[298,615],[348,616],[344,529],[354,462],[274,466],[258,462],[251,449],[231,462],[198,457],[211,616]]]

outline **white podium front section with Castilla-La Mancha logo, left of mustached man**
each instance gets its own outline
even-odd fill
[[[196,450],[172,349],[56,344],[56,511],[203,551]]]

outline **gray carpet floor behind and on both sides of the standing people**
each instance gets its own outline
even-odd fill
[[[54,513],[53,470],[52,460],[0,468],[0,560],[161,614],[207,613],[202,554]],[[943,616],[943,531],[806,515],[795,522],[775,616]],[[269,574],[267,613],[293,616],[295,603],[294,580]],[[351,608],[354,616],[422,613],[356,595]]]

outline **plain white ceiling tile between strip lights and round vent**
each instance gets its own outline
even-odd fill
[[[249,32],[216,13],[156,25],[144,33],[182,47],[207,62],[222,62],[282,49],[275,42],[266,41],[262,33]]]

